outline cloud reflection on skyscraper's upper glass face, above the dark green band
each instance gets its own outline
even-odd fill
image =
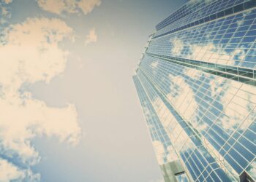
[[[243,63],[246,58],[244,46],[238,48],[223,49],[221,44],[215,44],[214,41],[195,43],[186,39],[188,34],[182,37],[170,37],[170,55],[187,58],[190,60],[203,60],[208,63],[218,63],[225,65],[236,65]],[[206,35],[210,39],[211,33]],[[197,39],[200,39],[197,37]]]

